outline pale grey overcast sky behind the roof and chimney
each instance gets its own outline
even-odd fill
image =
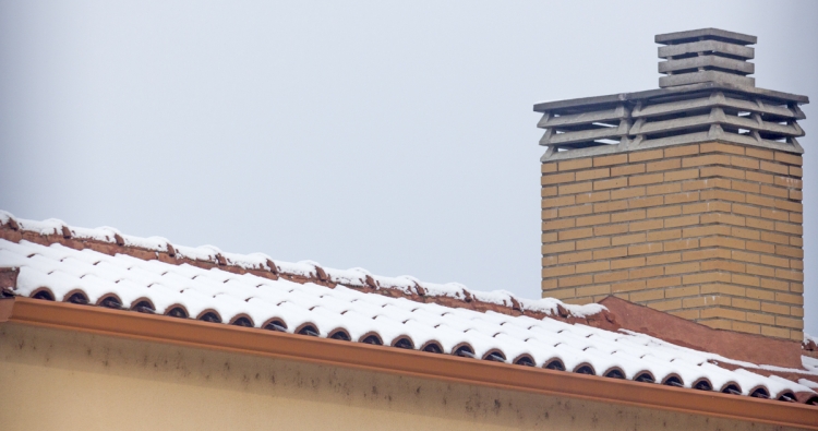
[[[759,37],[757,86],[818,103],[816,21],[809,1],[0,1],[0,208],[536,298],[536,101],[655,88],[653,35],[714,26]]]

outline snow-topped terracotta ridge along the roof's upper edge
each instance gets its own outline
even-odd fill
[[[336,270],[314,261],[284,262],[264,253],[239,254],[224,252],[214,246],[187,247],[171,243],[164,237],[135,237],[112,227],[83,228],[69,226],[57,218],[28,220],[0,209],[0,238],[13,242],[27,240],[50,246],[60,243],[75,250],[91,249],[115,255],[128,254],[142,260],[158,260],[169,264],[189,264],[234,274],[253,274],[268,279],[313,283],[326,287],[345,286],[363,292],[402,297],[421,303],[437,303],[449,308],[494,311],[507,315],[528,315],[534,319],[556,319],[568,323],[585,323],[596,327],[618,330],[613,314],[604,306],[567,304],[555,298],[524,299],[505,290],[471,290],[459,283],[434,284],[412,276],[386,277],[360,267]]]

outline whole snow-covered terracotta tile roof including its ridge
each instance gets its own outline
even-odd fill
[[[769,367],[639,332],[611,331],[615,319],[600,304],[527,300],[457,284],[381,277],[362,268],[187,248],[4,212],[0,224],[0,267],[17,268],[13,283],[0,286],[14,297],[818,403],[816,359],[804,357],[802,369]]]

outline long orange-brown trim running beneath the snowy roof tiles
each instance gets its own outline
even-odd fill
[[[9,321],[21,324],[818,430],[818,408],[794,403],[101,307],[21,297],[13,301]]]

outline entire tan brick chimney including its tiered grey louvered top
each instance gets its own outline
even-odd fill
[[[755,86],[755,36],[655,41],[660,88],[534,105],[543,296],[801,342],[809,100]]]

